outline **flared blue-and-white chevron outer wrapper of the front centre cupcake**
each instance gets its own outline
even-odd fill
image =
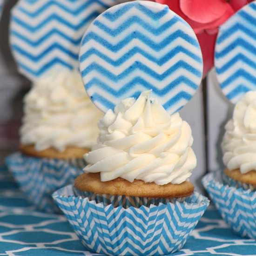
[[[209,200],[195,192],[184,202],[140,208],[107,206],[76,196],[69,185],[53,194],[77,236],[107,255],[165,255],[182,249]]]

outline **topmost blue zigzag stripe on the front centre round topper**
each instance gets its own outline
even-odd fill
[[[152,20],[160,20],[163,16],[165,16],[169,12],[169,8],[167,6],[164,7],[159,12],[155,12],[155,10],[152,11],[151,9],[149,9],[148,7],[146,7],[142,4],[132,2],[132,3],[127,3],[125,6],[118,9],[116,12],[103,13],[103,16],[113,22],[113,21],[119,19],[124,14],[126,14],[132,8],[138,9],[139,11],[141,11],[141,13],[144,13],[146,16],[150,17]]]

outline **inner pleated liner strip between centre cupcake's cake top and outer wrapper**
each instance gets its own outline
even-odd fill
[[[126,196],[126,195],[109,195],[109,194],[95,194],[89,191],[81,191],[74,188],[74,195],[81,196],[82,198],[87,197],[89,201],[94,200],[96,203],[103,203],[104,206],[112,204],[113,207],[122,206],[125,209],[133,206],[135,208],[140,208],[142,205],[150,207],[151,204],[159,205],[160,203],[168,202],[183,202],[189,197],[180,198],[152,198],[152,197],[139,197],[139,196]]]

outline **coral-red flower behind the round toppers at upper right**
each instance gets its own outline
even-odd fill
[[[155,0],[166,4],[194,29],[203,56],[203,77],[214,65],[218,27],[251,0]]]

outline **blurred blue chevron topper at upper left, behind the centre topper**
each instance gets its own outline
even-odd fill
[[[19,70],[34,80],[50,68],[79,66],[82,35],[94,18],[119,0],[19,0],[10,42]]]

